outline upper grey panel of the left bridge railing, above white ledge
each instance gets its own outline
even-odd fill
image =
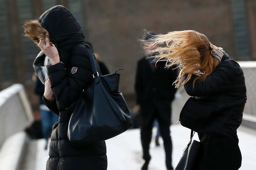
[[[0,148],[4,140],[23,131],[33,121],[31,105],[21,84],[0,92]]]

